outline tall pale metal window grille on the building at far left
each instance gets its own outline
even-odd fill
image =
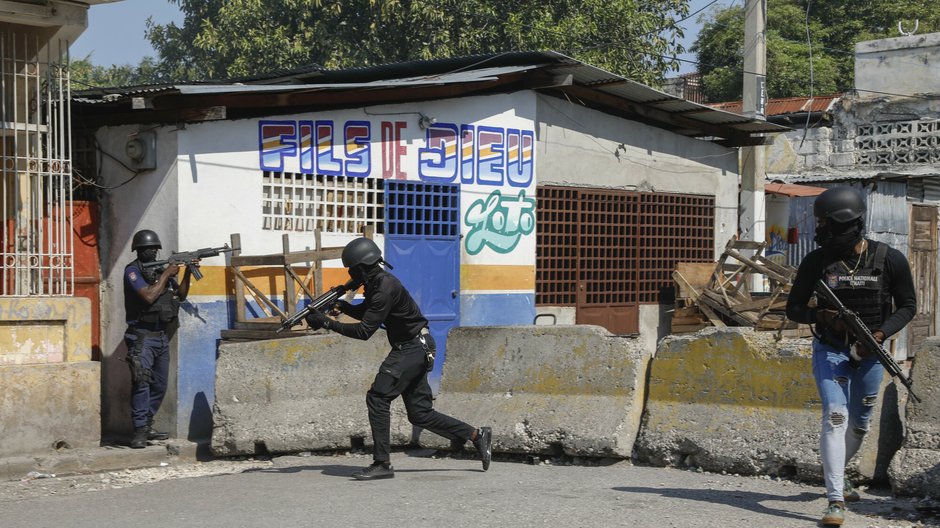
[[[72,295],[68,43],[0,33],[0,294]]]

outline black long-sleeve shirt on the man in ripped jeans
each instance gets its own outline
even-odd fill
[[[872,242],[869,241],[869,245]],[[849,266],[854,266],[855,260],[848,259]],[[824,270],[834,262],[827,259],[822,249],[810,252],[800,262],[796,278],[787,296],[787,317],[798,323],[815,323],[815,313],[807,306],[816,286],[816,281],[822,278]],[[914,288],[914,278],[911,267],[904,255],[892,248],[888,248],[885,255],[884,269],[885,289],[894,301],[894,311],[885,319],[878,330],[884,332],[885,337],[891,337],[904,328],[917,313],[917,298]]]

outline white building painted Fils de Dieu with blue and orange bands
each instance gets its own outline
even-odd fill
[[[551,314],[653,350],[675,262],[713,261],[735,234],[735,147],[783,130],[552,52],[94,90],[74,104],[83,173],[111,188],[99,242],[102,417],[115,433],[129,429],[121,274],[138,229],[165,250],[238,233],[242,254],[261,255],[285,233],[309,249],[371,227],[438,343],[455,326]],[[202,271],[157,416],[179,437],[210,433],[217,342],[235,319],[224,258]],[[283,270],[254,273],[283,297]],[[322,276],[319,289],[347,279],[338,261]]]

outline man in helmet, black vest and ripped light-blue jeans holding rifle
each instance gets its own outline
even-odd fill
[[[820,247],[800,263],[787,297],[787,317],[815,325],[813,377],[823,405],[820,457],[829,498],[824,525],[841,525],[845,502],[859,500],[845,478],[845,466],[868,432],[884,367],[873,351],[855,346],[838,312],[824,300],[810,307],[816,282],[825,280],[879,343],[904,328],[917,310],[907,259],[863,236],[865,209],[852,187],[833,187],[816,198],[815,240]]]

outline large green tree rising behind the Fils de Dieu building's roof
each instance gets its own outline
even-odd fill
[[[148,21],[147,37],[176,79],[551,49],[655,83],[678,69],[688,13],[688,0],[168,1],[182,25]]]

